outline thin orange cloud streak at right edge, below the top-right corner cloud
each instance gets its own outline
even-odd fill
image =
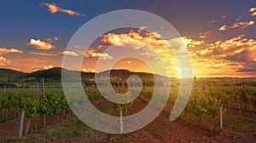
[[[249,21],[247,21],[247,22],[241,21],[241,22],[236,22],[236,23],[234,23],[232,26],[226,26],[226,25],[220,26],[220,27],[218,28],[218,31],[226,31],[226,30],[228,30],[228,29],[235,29],[235,28],[244,29],[244,28],[246,28],[247,26],[253,26],[254,24],[255,24],[255,21],[253,21],[253,20],[249,20]]]

